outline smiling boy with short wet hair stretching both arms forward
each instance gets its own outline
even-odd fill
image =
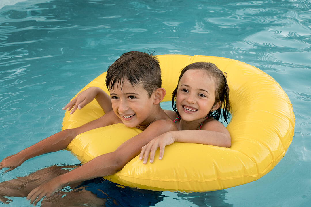
[[[81,127],[63,130],[15,155],[8,156],[0,163],[0,169],[6,167],[12,170],[32,157],[65,149],[78,134],[94,128],[117,123],[140,128],[142,133],[124,142],[114,152],[98,156],[72,171],[59,173],[57,177],[51,176],[49,181],[43,176],[42,180],[45,182],[33,184],[32,187],[36,188],[28,194],[27,199],[36,205],[44,196],[53,195],[68,183],[116,173],[128,161],[139,155],[142,146],[150,140],[162,133],[176,130],[175,124],[159,105],[165,96],[161,82],[160,66],[153,56],[142,52],[124,53],[107,70],[106,86],[110,91],[112,111]],[[0,192],[0,197],[15,195],[12,191],[10,193],[4,195]],[[16,192],[16,195],[23,194]]]

